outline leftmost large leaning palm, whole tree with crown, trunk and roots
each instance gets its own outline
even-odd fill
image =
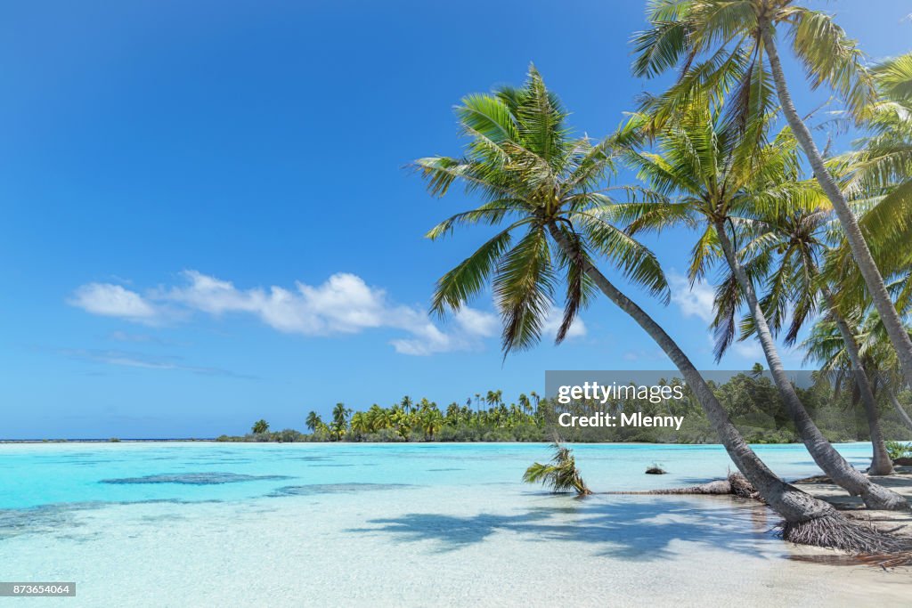
[[[466,260],[443,275],[432,311],[457,312],[489,280],[503,319],[503,351],[534,345],[551,309],[554,289],[564,283],[565,312],[557,332],[564,339],[576,314],[597,288],[656,341],[700,401],[732,461],[785,520],[783,537],[828,547],[858,550],[894,548],[896,541],[860,528],[823,500],[785,483],[757,457],[688,356],[656,321],[608,280],[595,263],[601,257],[628,279],[668,298],[655,256],[605,220],[612,201],[606,180],[616,141],[573,139],[560,100],[544,87],[534,67],[523,88],[499,88],[471,95],[456,108],[467,136],[461,158],[416,161],[434,195],[459,181],[482,205],[441,222],[428,236],[438,239],[457,226],[506,223]],[[514,232],[524,233],[514,242]]]

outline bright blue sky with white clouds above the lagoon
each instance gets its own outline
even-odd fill
[[[824,5],[871,57],[908,50],[905,1]],[[459,151],[461,96],[534,61],[590,136],[644,90],[637,2],[7,3],[0,9],[0,437],[211,437],[265,417],[544,388],[545,369],[665,369],[599,301],[575,335],[502,361],[490,294],[441,323],[434,281],[484,230],[409,160]],[[809,111],[823,93],[793,68]],[[714,366],[709,293],[637,300]],[[741,345],[721,366],[751,366]],[[791,366],[800,357],[786,355]]]

